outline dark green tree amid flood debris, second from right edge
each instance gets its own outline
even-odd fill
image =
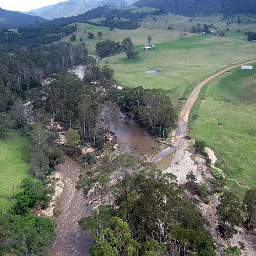
[[[233,227],[241,222],[239,199],[232,192],[224,191],[217,206],[219,228],[224,238],[236,231]]]

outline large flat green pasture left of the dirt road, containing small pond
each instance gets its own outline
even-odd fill
[[[123,86],[163,89],[179,108],[198,82],[226,67],[255,59],[255,53],[255,42],[198,35],[155,44],[155,50],[141,50],[137,59],[128,60],[124,53],[103,58],[99,65],[113,69],[114,78]],[[161,72],[145,73],[147,70]]]

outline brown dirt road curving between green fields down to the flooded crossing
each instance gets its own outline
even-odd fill
[[[203,81],[201,81],[200,83],[197,84],[197,86],[194,88],[193,92],[190,93],[181,113],[178,119],[178,124],[177,124],[177,130],[176,130],[176,134],[175,134],[175,139],[174,139],[174,143],[173,143],[173,147],[168,147],[166,148],[165,152],[166,154],[164,154],[164,152],[159,153],[157,156],[155,156],[153,158],[153,162],[157,162],[159,160],[161,160],[162,158],[166,157],[169,154],[172,154],[172,152],[179,147],[179,145],[181,144],[181,140],[184,138],[185,134],[186,134],[186,129],[187,129],[187,124],[188,124],[188,116],[190,113],[190,110],[192,109],[194,103],[196,102],[198,95],[200,93],[201,88],[204,86],[204,84],[206,84],[207,82],[209,82],[210,80],[214,79],[215,77],[217,77],[218,75],[231,70],[231,69],[235,69],[238,68],[242,65],[246,65],[252,62],[255,62],[256,60],[252,60],[252,61],[248,61],[248,62],[244,62],[226,69],[223,69],[209,77],[207,77],[206,79],[204,79]]]

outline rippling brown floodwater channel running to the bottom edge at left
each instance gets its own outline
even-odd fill
[[[93,245],[90,234],[78,225],[81,217],[90,215],[91,207],[84,198],[83,191],[75,188],[78,180],[79,166],[67,157],[64,164],[58,164],[56,171],[65,180],[60,197],[61,214],[56,218],[56,241],[50,250],[50,256],[90,255],[88,248]]]

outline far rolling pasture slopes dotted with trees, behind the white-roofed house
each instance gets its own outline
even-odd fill
[[[136,9],[134,7],[134,11],[142,11],[144,8]],[[154,11],[153,8],[146,8],[144,11]],[[156,18],[154,20],[153,18]],[[242,41],[246,41],[246,35],[244,35],[245,31],[256,31],[256,24],[253,23],[256,17],[250,16],[252,23],[249,24],[237,24],[233,22],[229,26],[226,25],[226,22],[231,22],[232,20],[237,20],[236,17],[228,17],[227,19],[223,20],[222,15],[212,15],[210,17],[185,17],[176,15],[173,13],[162,14],[162,15],[149,15],[146,18],[142,19],[140,23],[140,28],[136,30],[120,30],[114,29],[110,30],[106,27],[94,26],[85,23],[76,23],[77,24],[77,31],[76,34],[76,41],[72,42],[74,45],[79,45],[81,42],[79,41],[80,37],[82,37],[83,42],[86,43],[86,47],[88,48],[90,53],[95,53],[95,45],[98,41],[102,41],[104,39],[111,39],[115,41],[122,41],[125,37],[131,37],[134,45],[143,45],[147,42],[147,36],[150,35],[152,37],[152,44],[160,44],[163,42],[170,42],[175,41],[180,37],[180,34],[186,32],[187,36],[192,36],[193,34],[189,33],[192,26],[196,26],[198,23],[203,27],[203,24],[213,24],[214,27],[217,29],[210,28],[209,30],[216,30],[216,31],[224,31],[225,36],[228,38],[238,39]],[[243,21],[247,18],[246,15],[240,16]],[[117,19],[117,17],[115,17]],[[104,17],[92,19],[92,22],[100,23],[101,20],[105,19]],[[124,20],[123,18],[121,18]],[[189,22],[189,19],[192,19]],[[168,27],[171,26],[173,30],[168,30]],[[226,29],[229,31],[226,31]],[[240,33],[237,30],[241,30]],[[87,33],[84,33],[84,30]],[[97,32],[102,32],[102,37],[99,38],[97,36]],[[88,32],[94,33],[94,38],[88,38]],[[197,34],[194,34],[195,36]],[[60,41],[70,42],[70,36],[64,36],[61,38]],[[216,35],[218,38],[219,36]],[[218,39],[216,39],[218,40]],[[221,40],[221,39],[219,39]]]

